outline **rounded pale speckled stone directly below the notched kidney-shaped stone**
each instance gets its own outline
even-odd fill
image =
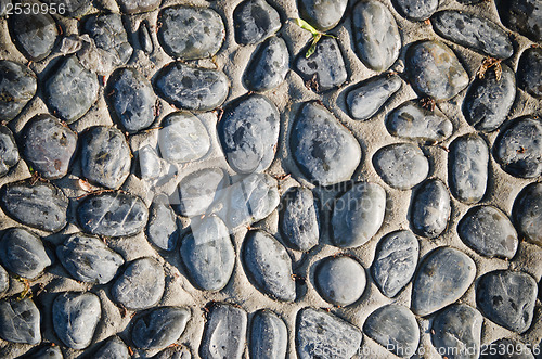
[[[429,161],[411,143],[389,144],[373,155],[373,165],[388,185],[410,190],[429,174]]]

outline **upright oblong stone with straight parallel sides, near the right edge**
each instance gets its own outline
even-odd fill
[[[477,134],[465,134],[450,144],[448,155],[450,192],[461,202],[479,202],[486,193],[489,171],[489,150]]]

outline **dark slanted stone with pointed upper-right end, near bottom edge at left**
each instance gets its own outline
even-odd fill
[[[132,328],[132,342],[141,349],[163,349],[179,339],[190,320],[182,307],[159,307],[138,318]]]

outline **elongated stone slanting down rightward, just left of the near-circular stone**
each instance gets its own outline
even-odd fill
[[[248,232],[243,244],[243,265],[254,286],[282,302],[296,298],[292,259],[284,246],[263,231]]]

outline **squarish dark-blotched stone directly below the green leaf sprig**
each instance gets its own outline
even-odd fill
[[[305,47],[297,56],[296,68],[313,91],[324,92],[346,81],[348,73],[336,39],[322,37],[308,59],[307,51]]]

